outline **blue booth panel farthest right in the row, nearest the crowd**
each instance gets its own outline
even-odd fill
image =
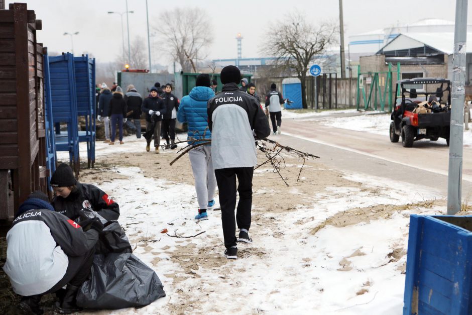
[[[74,57],[77,113],[85,119],[85,131],[79,141],[87,143],[88,167],[95,163],[95,59],[88,55]]]

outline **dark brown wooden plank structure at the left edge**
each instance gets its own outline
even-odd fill
[[[26,4],[0,10],[0,220],[47,192],[41,20]]]

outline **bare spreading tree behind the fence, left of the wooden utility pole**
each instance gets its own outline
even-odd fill
[[[277,22],[266,33],[262,52],[277,58],[276,63],[292,69],[302,85],[302,103],[306,109],[306,73],[317,55],[336,43],[333,23],[314,26],[300,12],[292,13],[287,22]]]

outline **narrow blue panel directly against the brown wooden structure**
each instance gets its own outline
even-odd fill
[[[51,175],[56,170],[56,141],[54,137],[54,120],[52,112],[52,100],[51,100],[51,80],[49,73],[49,57],[48,54],[43,55],[44,65],[44,98],[45,98],[45,110],[44,116],[46,121],[46,168],[48,171],[47,181],[48,189],[51,189],[50,180]]]

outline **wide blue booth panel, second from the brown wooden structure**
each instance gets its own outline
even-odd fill
[[[62,56],[49,57],[49,72],[53,121],[56,123],[56,150],[69,152],[69,162],[78,176],[79,135],[73,55],[64,53]],[[59,123],[67,123],[67,132],[59,130]]]

